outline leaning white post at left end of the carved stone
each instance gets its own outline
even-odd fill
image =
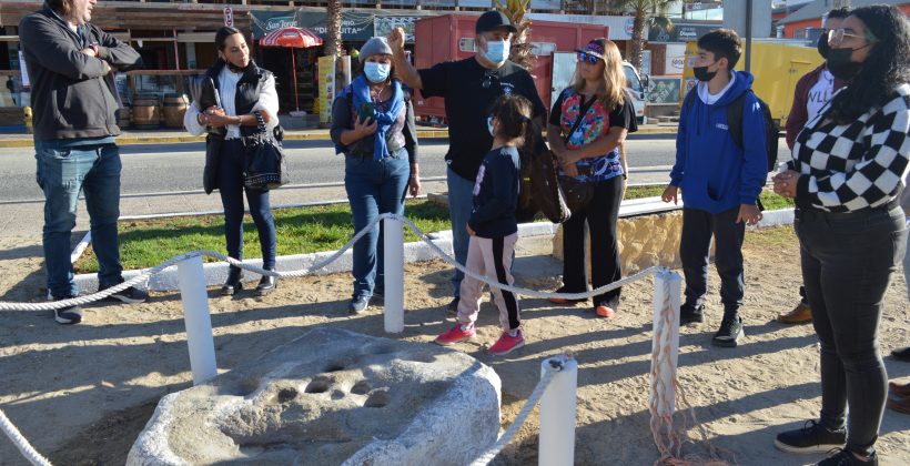
[[[182,261],[176,265],[176,272],[183,301],[183,320],[186,323],[186,346],[190,348],[193,385],[199,385],[218,375],[202,257],[196,255]]]

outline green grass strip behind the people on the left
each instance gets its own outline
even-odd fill
[[[276,209],[272,213],[275,217],[277,255],[334,251],[355,233],[347,204]],[[405,215],[427,233],[449,229],[448,210],[426,200],[408,201]],[[193,250],[226,253],[223,215],[121,222],[119,229],[120,256],[125,270],[151,267]],[[404,240],[411,242],[417,241],[417,237],[405,229]],[[256,226],[249,214],[243,222],[243,245],[244,259],[262,257]],[[214,262],[212,259],[205,260]],[[74,266],[78,273],[98,272],[98,261],[91,246]]]

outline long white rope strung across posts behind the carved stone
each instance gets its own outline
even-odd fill
[[[151,269],[146,269],[146,270],[142,271],[139,275],[136,275],[136,276],[134,276],[134,277],[132,277],[132,278],[130,278],[130,280],[128,280],[128,281],[119,284],[119,285],[114,285],[114,286],[111,286],[109,288],[104,288],[103,291],[100,291],[100,292],[97,292],[97,293],[93,293],[93,294],[90,294],[90,295],[73,297],[73,298],[69,298],[69,300],[60,300],[60,301],[54,301],[54,302],[50,302],[50,303],[0,303],[0,311],[53,311],[53,310],[74,306],[74,305],[89,304],[89,303],[92,303],[92,302],[95,302],[95,301],[107,298],[108,296],[110,296],[114,293],[118,293],[118,292],[121,292],[123,290],[129,288],[130,286],[138,285],[139,283],[149,280],[149,277],[151,277],[152,275],[155,275],[155,274],[160,273],[164,269],[168,269],[172,265],[175,265],[175,264],[178,264],[182,261],[185,261],[188,259],[191,259],[191,257],[194,257],[194,256],[198,256],[198,255],[218,259],[218,260],[226,262],[226,263],[229,263],[233,266],[236,266],[236,267],[240,267],[240,269],[243,269],[243,270],[246,270],[246,271],[260,274],[260,275],[275,276],[275,277],[281,277],[281,278],[301,277],[301,276],[310,275],[310,274],[312,274],[313,272],[315,272],[320,269],[324,269],[326,265],[328,265],[332,262],[336,261],[338,257],[341,257],[342,254],[344,254],[348,249],[351,249],[354,245],[354,243],[360,241],[366,233],[368,233],[368,231],[374,225],[376,225],[376,223],[378,223],[380,221],[382,221],[383,219],[386,219],[386,217],[397,220],[397,221],[402,222],[403,224],[407,225],[407,227],[410,227],[411,231],[413,231],[414,234],[417,235],[417,237],[419,237],[424,243],[426,243],[431,247],[431,250],[433,250],[444,262],[446,262],[447,264],[452,265],[453,267],[462,271],[465,275],[468,275],[468,276],[471,276],[475,280],[478,280],[483,283],[486,283],[489,286],[494,286],[494,287],[497,287],[497,288],[504,290],[504,291],[509,291],[512,293],[515,293],[515,294],[518,294],[518,295],[522,295],[522,296],[540,297],[540,298],[560,297],[560,298],[565,298],[565,300],[584,300],[584,298],[588,298],[588,297],[598,296],[598,295],[601,295],[601,294],[607,293],[609,291],[616,290],[618,287],[631,284],[634,282],[637,282],[639,280],[643,280],[643,278],[647,277],[648,275],[653,275],[653,274],[657,273],[659,270],[661,270],[660,267],[657,267],[657,266],[648,267],[648,269],[645,269],[645,270],[643,270],[643,271],[640,271],[640,272],[638,272],[634,275],[629,275],[629,276],[627,276],[623,280],[618,280],[618,281],[613,282],[610,284],[607,284],[607,285],[604,285],[604,286],[600,286],[598,288],[595,288],[595,290],[592,290],[592,291],[588,291],[588,292],[584,292],[584,293],[547,293],[547,292],[539,292],[539,291],[536,291],[536,290],[522,288],[522,287],[518,287],[518,286],[506,285],[504,283],[499,283],[495,278],[491,278],[488,276],[481,275],[481,274],[477,274],[476,272],[473,272],[473,271],[468,270],[464,265],[459,264],[458,261],[456,261],[455,259],[453,259],[452,256],[446,254],[446,252],[443,251],[442,247],[436,245],[436,243],[434,243],[433,240],[431,240],[429,236],[426,235],[426,233],[424,233],[419,227],[417,227],[417,225],[414,224],[414,222],[408,220],[406,216],[398,215],[398,214],[393,214],[393,213],[384,213],[384,214],[377,215],[375,219],[373,219],[373,221],[368,225],[366,225],[363,230],[357,232],[357,234],[355,234],[354,237],[351,239],[351,241],[348,241],[340,250],[335,251],[332,255],[330,255],[328,257],[326,257],[323,261],[317,262],[316,264],[313,264],[309,267],[304,267],[304,269],[301,269],[301,270],[297,270],[297,271],[289,271],[289,272],[269,271],[269,270],[265,270],[265,269],[262,269],[262,267],[257,267],[255,265],[251,265],[251,264],[246,264],[244,262],[237,261],[236,259],[229,257],[229,256],[226,256],[226,255],[224,255],[220,252],[216,252],[216,251],[196,250],[196,251],[191,251],[191,252],[186,252],[186,253],[183,253],[183,254],[175,255],[175,256],[164,261],[163,263],[161,263],[160,265],[158,265],[155,267],[151,267]]]

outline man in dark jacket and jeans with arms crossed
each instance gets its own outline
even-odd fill
[[[91,217],[99,288],[123,282],[117,219],[120,216],[120,134],[112,70],[141,65],[139,52],[89,23],[97,0],[47,0],[19,22],[31,78],[38,184],[44,191],[44,263],[54,300],[78,293],[70,263],[70,233],[84,190]],[[111,298],[141,303],[148,294],[129,287]],[[54,311],[61,324],[82,320],[79,306]]]

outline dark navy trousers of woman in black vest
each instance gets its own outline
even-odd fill
[[[218,162],[218,190],[224,206],[224,237],[228,255],[243,260],[243,193],[250,203],[250,214],[259,231],[262,247],[262,267],[275,269],[275,221],[269,203],[269,191],[243,186],[244,150],[239,139],[225,140]]]

